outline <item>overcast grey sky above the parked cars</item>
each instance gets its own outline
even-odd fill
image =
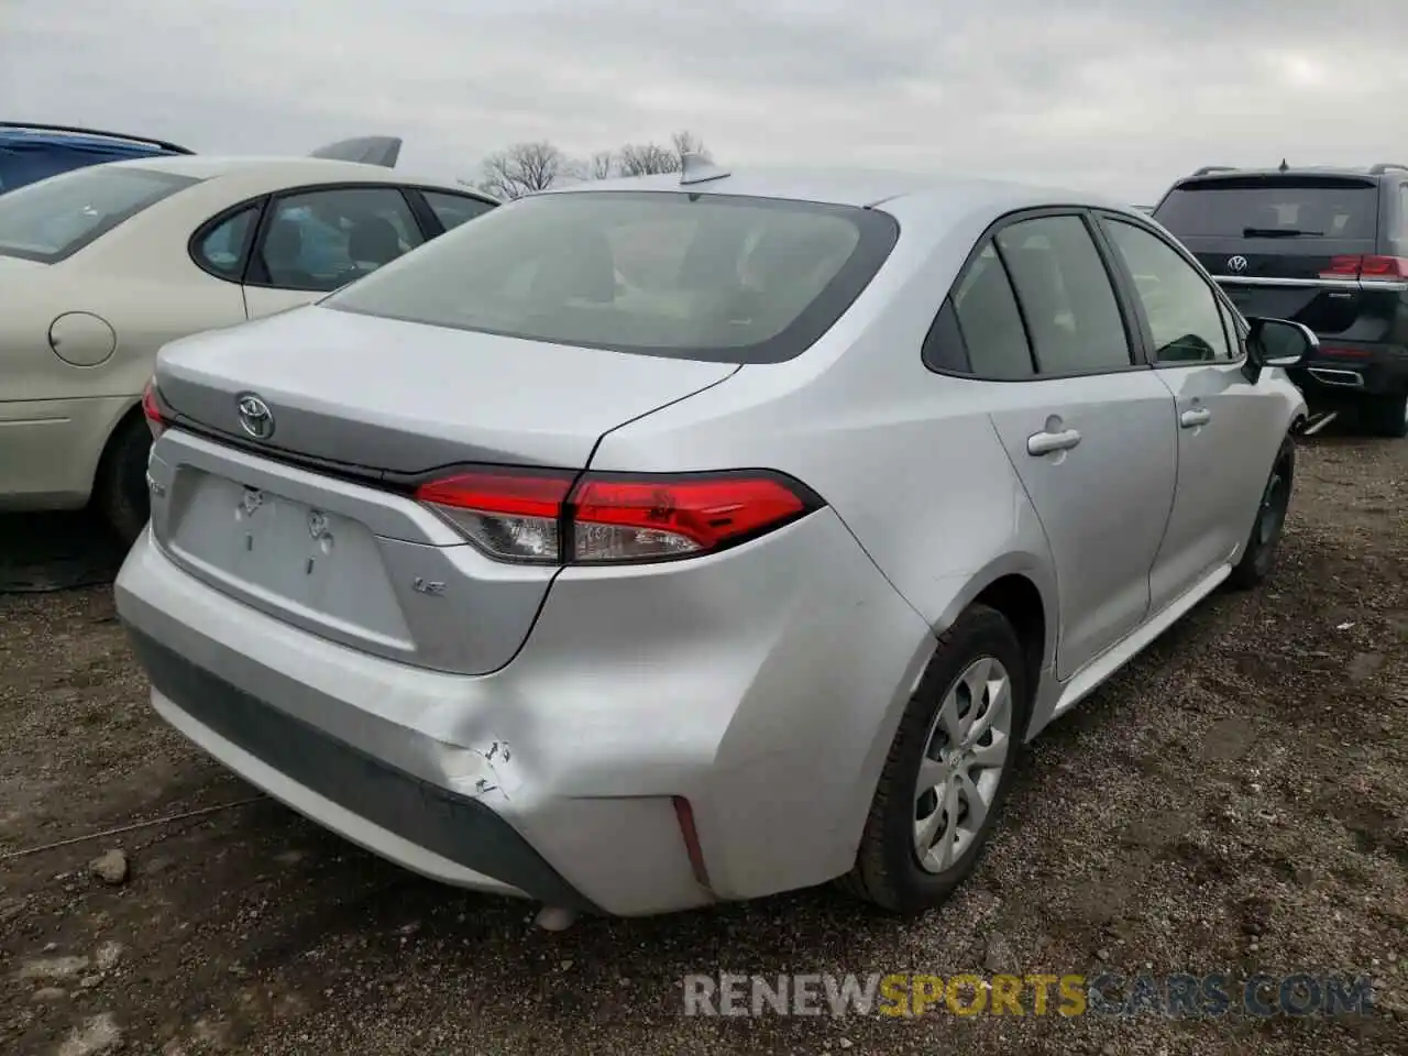
[[[472,175],[700,135],[728,165],[1155,199],[1205,163],[1408,161],[1404,0],[0,0],[0,117]]]

